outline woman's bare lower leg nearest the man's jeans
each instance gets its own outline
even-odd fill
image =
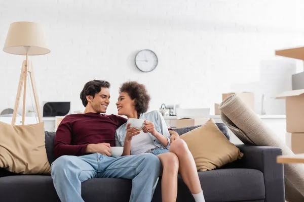
[[[173,153],[164,153],[157,157],[163,166],[162,201],[175,202],[177,197],[178,158]]]

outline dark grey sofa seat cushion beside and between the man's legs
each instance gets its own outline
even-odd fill
[[[129,201],[132,181],[95,178],[82,183],[86,202]],[[0,201],[60,202],[50,175],[15,175],[0,177]]]

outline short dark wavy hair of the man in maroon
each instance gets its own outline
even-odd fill
[[[95,96],[96,93],[101,91],[101,88],[110,88],[110,83],[107,81],[93,80],[85,84],[83,90],[80,93],[80,98],[85,107],[88,105],[87,95]]]

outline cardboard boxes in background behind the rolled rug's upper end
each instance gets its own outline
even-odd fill
[[[253,92],[229,92],[229,93],[223,93],[222,94],[222,101],[226,99],[228,96],[232,94],[237,94],[243,102],[251,109],[254,111],[254,93]],[[218,109],[219,104],[215,103],[214,104],[214,114],[219,115],[220,110]]]

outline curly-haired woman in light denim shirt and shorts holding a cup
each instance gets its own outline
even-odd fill
[[[179,138],[170,142],[169,131],[160,113],[146,113],[149,101],[144,85],[135,81],[122,84],[116,103],[118,114],[145,121],[142,129],[130,128],[129,123],[119,127],[116,145],[124,146],[123,156],[152,153],[160,159],[163,166],[162,201],[176,201],[178,172],[195,201],[205,201],[196,164],[186,143]]]

